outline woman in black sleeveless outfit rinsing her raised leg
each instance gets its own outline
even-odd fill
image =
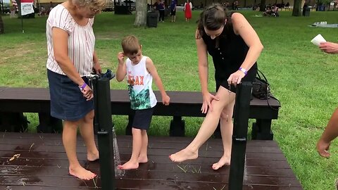
[[[213,164],[213,170],[218,170],[223,165],[230,165],[234,86],[255,79],[256,61],[263,45],[241,13],[227,14],[222,6],[215,4],[201,13],[196,30],[196,46],[203,94],[201,111],[207,114],[192,143],[182,151],[170,155],[170,159],[174,162],[196,159],[199,147],[211,137],[220,120],[224,153]],[[208,53],[215,66],[215,96],[208,91]]]

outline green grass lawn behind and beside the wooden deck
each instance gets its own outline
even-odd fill
[[[320,158],[315,143],[323,132],[334,108],[338,106],[338,55],[319,51],[310,41],[318,33],[327,41],[338,41],[338,28],[308,27],[315,22],[338,23],[338,12],[311,12],[310,17],[294,18],[290,11],[280,18],[253,17],[242,12],[261,38],[263,53],[258,67],[265,73],[273,94],[282,108],[273,121],[275,140],[304,189],[334,189],[338,178],[338,141],[331,146],[330,159]],[[134,28],[133,15],[102,13],[96,16],[94,32],[96,51],[103,68],[116,70],[116,55],[121,39],[127,34],[139,37],[143,53],[154,61],[165,89],[199,91],[194,30],[199,12],[192,22],[184,22],[182,12],[176,23],[158,23],[157,28]],[[47,87],[46,18],[21,20],[3,17],[6,34],[0,35],[0,86]],[[213,91],[213,64],[210,61],[210,85]],[[336,76],[336,77],[334,77]],[[156,89],[155,85],[154,88]],[[127,89],[125,82],[111,82],[111,89]],[[37,114],[27,113],[30,131],[35,131]],[[127,124],[125,116],[113,117],[118,134]],[[185,118],[186,134],[194,136],[202,118]],[[150,135],[168,135],[170,118],[154,117]],[[250,131],[250,129],[249,129]]]

